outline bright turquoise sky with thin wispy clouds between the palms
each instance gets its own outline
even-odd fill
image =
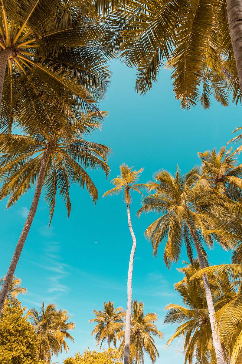
[[[94,206],[86,191],[71,187],[72,211],[66,217],[61,199],[57,199],[52,225],[48,229],[48,207],[44,197],[40,199],[36,217],[24,246],[16,275],[22,286],[28,289],[19,297],[22,304],[39,307],[54,303],[66,309],[76,324],[74,343],[70,343],[69,355],[95,349],[94,337],[90,336],[93,325],[93,309],[102,309],[103,301],[114,301],[115,306],[126,308],[126,280],[131,236],[127,225],[126,206],[121,196],[102,198],[111,188],[110,181],[119,174],[123,162],[135,169],[144,167],[141,182],[147,182],[155,171],[167,169],[174,172],[177,163],[186,172],[199,163],[197,152],[220,148],[232,137],[235,127],[241,126],[241,106],[224,108],[215,101],[209,110],[200,106],[191,111],[182,111],[180,103],[172,93],[170,75],[160,72],[159,82],[145,96],[137,96],[134,90],[135,70],[119,61],[111,64],[112,83],[102,110],[109,112],[101,131],[90,139],[111,147],[109,159],[111,174],[106,181],[101,171],[92,171],[91,176],[99,191],[99,200]],[[33,191],[23,196],[9,210],[6,201],[1,209],[1,268],[0,276],[7,272],[16,242],[20,236]],[[179,303],[174,283],[181,279],[176,268],[186,259],[167,270],[163,263],[163,249],[155,259],[151,244],[144,238],[144,230],[154,220],[148,214],[136,218],[140,208],[139,195],[133,196],[131,218],[137,238],[133,273],[133,298],[144,302],[145,312],[156,312],[158,328],[164,332],[163,341],[157,341],[160,357],[156,363],[172,361],[183,363],[179,343],[165,350],[165,343],[174,333],[175,327],[163,325],[164,307]],[[210,264],[228,262],[230,253],[216,246],[209,252]],[[61,363],[68,355],[58,357]],[[145,364],[150,361],[145,360]]]

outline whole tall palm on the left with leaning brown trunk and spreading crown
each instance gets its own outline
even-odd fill
[[[36,184],[32,205],[0,293],[0,312],[33,222],[42,187],[45,187],[50,222],[56,205],[57,189],[65,202],[69,217],[70,183],[77,183],[83,189],[86,188],[93,202],[97,201],[97,188],[85,168],[101,168],[107,175],[109,167],[106,161],[110,149],[82,138],[82,134],[90,133],[100,125],[93,115],[82,115],[82,118],[72,125],[67,124],[66,120],[63,120],[63,123],[62,120],[58,120],[51,127],[44,123],[46,127],[44,129],[43,125],[42,134],[37,137],[0,134],[0,180],[3,182],[0,200],[10,195],[8,208]]]

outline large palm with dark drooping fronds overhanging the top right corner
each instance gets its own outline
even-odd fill
[[[199,101],[208,108],[212,94],[227,106],[228,84],[233,99],[241,99],[240,0],[95,2],[112,22],[110,49],[137,68],[138,93],[151,89],[168,61],[182,108]]]

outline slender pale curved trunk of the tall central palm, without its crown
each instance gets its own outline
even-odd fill
[[[131,321],[131,308],[132,308],[132,273],[134,264],[134,255],[136,248],[136,238],[133,232],[131,217],[130,217],[130,204],[127,202],[127,215],[128,215],[128,227],[130,228],[130,234],[132,236],[132,249],[130,253],[130,264],[128,266],[128,284],[127,284],[127,312],[125,321],[125,336],[124,336],[124,364],[130,363],[130,321]]]

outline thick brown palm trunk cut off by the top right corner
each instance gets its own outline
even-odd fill
[[[229,32],[242,90],[242,0],[226,0]]]

